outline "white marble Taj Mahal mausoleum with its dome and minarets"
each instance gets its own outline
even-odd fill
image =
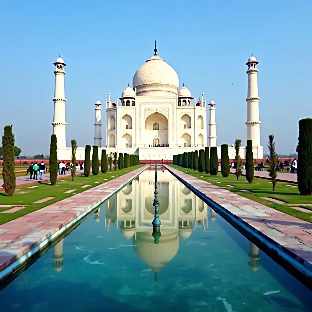
[[[247,86],[247,136],[252,140],[253,157],[263,157],[260,144],[258,61],[251,54],[246,62]],[[71,159],[71,147],[66,147],[65,114],[65,62],[61,55],[54,62],[55,90],[53,134],[57,138],[57,158]],[[208,103],[209,123],[207,137],[207,99],[192,96],[184,85],[179,89],[176,71],[157,54],[135,72],[132,87],[128,86],[114,102],[111,94],[105,101],[106,117],[102,121],[102,103],[95,102],[94,145],[107,153],[121,152],[139,155],[141,160],[173,159],[173,155],[217,146],[216,103]],[[106,138],[102,138],[102,125]],[[208,141],[207,141],[208,139]],[[246,142],[244,139],[243,142]],[[226,142],[222,142],[226,143]],[[90,145],[91,142],[90,142]],[[217,148],[218,157],[221,147]],[[235,158],[235,149],[229,146],[229,158]],[[92,153],[91,153],[92,154]],[[245,147],[240,155],[245,157]],[[91,155],[92,156],[92,155]],[[85,147],[78,147],[77,159],[84,159]]]

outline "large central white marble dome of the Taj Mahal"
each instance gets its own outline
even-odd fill
[[[150,92],[159,93],[156,95],[168,92],[177,94],[179,87],[178,74],[156,54],[156,51],[134,74],[133,88],[137,88],[138,95],[145,95],[145,93]]]

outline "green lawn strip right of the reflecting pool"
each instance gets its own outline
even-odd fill
[[[291,208],[291,206],[300,206],[312,210],[312,206],[305,206],[312,205],[312,196],[300,195],[297,184],[278,182],[275,186],[275,191],[273,192],[272,183],[267,179],[254,178],[253,182],[249,184],[245,176],[241,176],[239,180],[236,181],[235,174],[230,174],[227,178],[223,178],[220,172],[216,176],[211,176],[210,174],[206,174],[204,172],[200,173],[198,171],[182,168],[176,165],[170,166],[184,173],[191,174],[193,177],[207,181],[222,188],[227,188],[229,191],[252,199],[255,202],[260,202],[268,207],[312,223],[312,213],[302,212]],[[217,183],[216,181],[221,183]],[[295,187],[286,186],[285,184]],[[228,185],[233,187],[228,187]],[[247,190],[251,193],[245,193],[242,190]],[[285,202],[285,204],[277,204],[261,197],[272,197]]]

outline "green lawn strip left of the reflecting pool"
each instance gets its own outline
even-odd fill
[[[101,183],[108,182],[109,180],[112,180],[114,178],[118,178],[119,176],[132,171],[134,169],[140,168],[143,165],[136,165],[130,168],[121,169],[112,171],[111,173],[101,173],[97,176],[92,175],[90,173],[89,177],[85,177],[82,175],[77,175],[75,177],[74,182],[71,181],[71,176],[66,175],[66,177],[58,179],[56,185],[51,186],[49,183],[38,183],[37,188],[30,188],[30,186],[24,186],[24,187],[18,187],[17,189],[19,191],[15,191],[14,194],[11,197],[8,197],[5,192],[0,192],[0,202],[1,205],[13,205],[12,207],[0,207],[0,212],[11,209],[13,207],[17,206],[27,206],[17,212],[13,213],[0,213],[0,224],[6,223],[8,221],[14,220],[18,217],[24,216],[30,212],[33,212],[35,210],[38,210],[40,208],[46,207],[48,205],[51,205],[52,203],[59,202],[62,199],[65,199],[67,197],[71,197],[72,195],[75,195],[77,193],[81,193],[85,190],[88,190],[90,188],[93,188],[97,185],[100,185]],[[65,180],[65,181],[62,181]],[[100,183],[95,183],[99,181]],[[86,188],[81,188],[83,185],[90,185]],[[69,189],[75,189],[73,193],[64,193]],[[46,198],[46,197],[55,197],[47,202],[43,202],[41,204],[33,204],[33,202],[36,202],[40,199]]]

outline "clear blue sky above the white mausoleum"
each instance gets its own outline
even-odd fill
[[[310,12],[308,0],[2,1],[0,128],[13,124],[22,154],[48,153],[53,62],[61,53],[67,144],[93,144],[95,101],[105,103],[108,92],[118,98],[157,40],[180,86],[217,103],[217,145],[246,140],[245,63],[252,51],[264,152],[274,134],[277,152],[293,153],[298,120],[312,117]]]

